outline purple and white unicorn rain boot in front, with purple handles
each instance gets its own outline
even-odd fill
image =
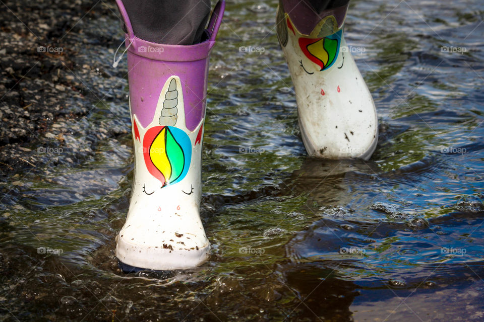
[[[221,24],[219,1],[195,45],[137,38],[121,0],[128,48],[135,175],[126,223],[116,237],[124,270],[196,267],[210,244],[200,219],[201,153],[209,54]]]

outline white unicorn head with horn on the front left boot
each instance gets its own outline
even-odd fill
[[[174,99],[178,126],[161,126],[167,110],[163,105]],[[171,76],[153,121],[143,128],[135,114],[132,122],[135,178],[116,257],[123,264],[153,270],[198,266],[207,260],[210,248],[199,216],[203,120],[194,131],[185,127],[180,79]]]

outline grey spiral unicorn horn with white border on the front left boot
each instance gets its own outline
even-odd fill
[[[167,79],[158,99],[155,119],[163,126],[185,127],[185,109],[183,104],[183,92],[178,76]]]

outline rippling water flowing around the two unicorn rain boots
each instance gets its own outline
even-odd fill
[[[484,319],[484,7],[352,0],[346,40],[362,48],[354,57],[380,123],[366,162],[305,155],[276,7],[229,1],[211,55],[210,260],[180,272],[119,271],[114,237],[133,179],[123,134],[81,165],[4,183],[0,319]],[[107,122],[106,109],[87,124]],[[127,100],[109,109],[129,126]]]

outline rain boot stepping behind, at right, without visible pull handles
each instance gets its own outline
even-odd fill
[[[294,0],[281,0],[277,10],[302,141],[314,157],[368,159],[377,145],[375,104],[343,36],[347,10],[318,14]]]

